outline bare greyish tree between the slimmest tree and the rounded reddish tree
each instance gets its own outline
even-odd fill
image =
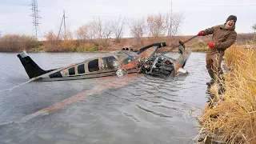
[[[142,38],[146,34],[146,21],[145,18],[140,18],[137,20],[133,20],[130,23],[128,23],[130,27],[130,33],[134,37],[134,46],[142,46],[143,41]]]

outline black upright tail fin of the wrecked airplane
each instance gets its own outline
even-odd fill
[[[23,51],[21,54],[17,55],[19,60],[22,62],[22,66],[26,70],[26,74],[29,75],[30,78],[37,77],[42,74],[46,74],[52,70],[42,70],[31,58],[26,51]]]

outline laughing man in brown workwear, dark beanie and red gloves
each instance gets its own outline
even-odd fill
[[[221,63],[225,50],[229,48],[237,38],[237,33],[234,30],[235,22],[237,22],[237,17],[230,15],[224,25],[213,26],[198,33],[198,36],[213,34],[212,42],[207,42],[210,49],[206,52],[206,69],[211,78],[210,82],[206,83],[208,86],[214,84],[215,76],[219,77],[223,74]]]

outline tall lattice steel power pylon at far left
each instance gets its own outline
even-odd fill
[[[31,10],[32,10],[32,14],[30,15],[32,18],[33,18],[33,35],[35,38],[38,38],[38,34],[40,33],[40,30],[39,30],[39,18],[41,18],[39,15],[38,15],[38,1],[37,0],[32,0],[32,3],[31,3]]]

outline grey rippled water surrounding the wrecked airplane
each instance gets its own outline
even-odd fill
[[[95,55],[30,57],[52,69]],[[29,78],[16,54],[0,53],[0,62],[0,143],[194,143],[198,134],[190,114],[207,101],[204,53],[192,53],[190,74],[176,78],[127,74],[22,86]]]

